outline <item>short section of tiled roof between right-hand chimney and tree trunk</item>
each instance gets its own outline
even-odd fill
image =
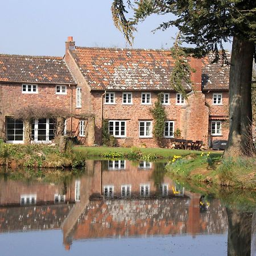
[[[228,60],[230,53],[226,52]],[[227,90],[229,89],[229,68],[227,64],[222,65],[222,61],[211,63],[214,59],[214,53],[209,53],[203,59],[202,65],[202,89],[203,90]]]

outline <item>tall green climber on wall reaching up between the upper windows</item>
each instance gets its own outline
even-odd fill
[[[163,134],[166,121],[166,112],[161,102],[163,97],[162,95],[162,93],[158,94],[158,100],[154,103],[154,108],[150,109],[155,121],[153,135],[159,147],[163,147]]]

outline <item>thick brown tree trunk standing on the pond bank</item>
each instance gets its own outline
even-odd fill
[[[233,38],[229,73],[229,139],[224,157],[253,156],[251,77],[254,43]]]

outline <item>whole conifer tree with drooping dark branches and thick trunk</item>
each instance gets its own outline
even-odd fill
[[[128,10],[132,18],[126,18]],[[179,29],[172,56],[182,67],[186,54],[204,57],[215,53],[214,61],[228,62],[223,43],[233,40],[229,74],[229,141],[224,152],[229,156],[254,156],[252,135],[251,81],[253,57],[256,60],[256,1],[255,0],[113,0],[114,24],[130,44],[139,22],[152,14],[163,15],[163,23],[156,29]],[[171,15],[174,14],[174,15]],[[168,18],[170,18],[168,20]],[[173,18],[174,17],[174,18]],[[183,42],[192,44],[182,48]],[[184,55],[173,54],[183,51]],[[184,67],[188,72],[190,69]],[[184,72],[184,70],[183,70]],[[179,71],[172,74],[177,90],[182,90]]]

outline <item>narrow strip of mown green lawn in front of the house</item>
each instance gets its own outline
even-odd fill
[[[172,158],[174,155],[190,155],[196,154],[200,155],[202,151],[194,151],[194,150],[175,150],[169,148],[138,148],[138,147],[83,147],[76,146],[74,147],[75,151],[80,151],[82,154],[87,156],[101,156],[102,154],[106,154],[109,152],[118,152],[124,155],[129,154],[133,151],[140,150],[143,155],[154,154],[162,158]],[[211,154],[216,154],[221,156],[222,153],[212,151]]]

